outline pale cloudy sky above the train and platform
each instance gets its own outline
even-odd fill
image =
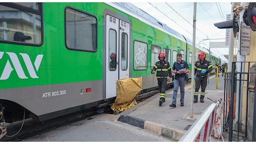
[[[194,3],[135,2],[132,4],[193,40]],[[225,42],[226,29],[219,29],[214,23],[226,21],[227,14],[231,13],[231,6],[231,2],[196,2],[196,43],[209,49],[210,42]],[[228,48],[210,50],[214,55],[227,61],[223,55],[228,55]]]

